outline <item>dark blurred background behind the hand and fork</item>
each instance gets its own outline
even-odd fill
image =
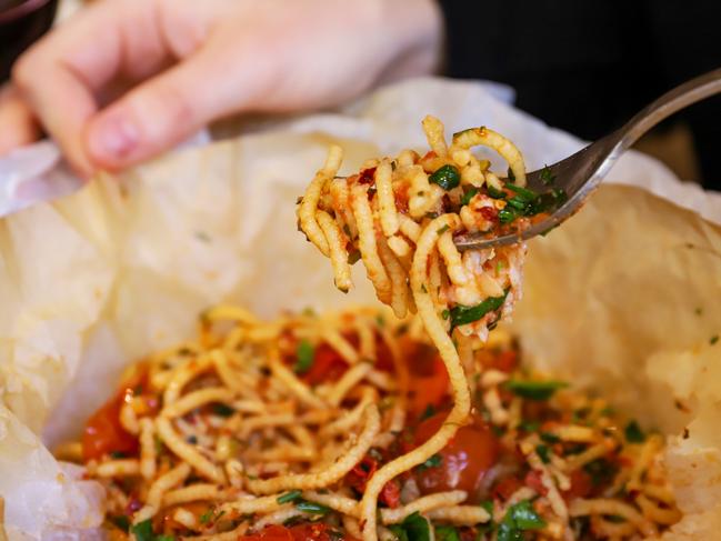
[[[519,108],[587,140],[721,66],[718,0],[438,1],[445,28],[440,74],[509,84]],[[53,20],[78,9],[81,0],[0,0],[0,79]],[[683,180],[721,189],[720,144],[715,97],[667,120],[637,149]]]

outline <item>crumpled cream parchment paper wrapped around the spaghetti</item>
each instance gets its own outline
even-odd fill
[[[77,437],[122,368],[190,335],[202,309],[234,301],[272,317],[377,302],[359,269],[357,289],[338,292],[329,262],[296,232],[296,198],[331,140],[346,149],[347,171],[422,148],[425,113],[449,133],[492,127],[531,169],[580,147],[498,96],[480,84],[405,82],[1,221],[0,494],[11,539],[97,534],[98,487],[44,445]],[[669,435],[685,517],[664,539],[717,539],[721,343],[711,337],[721,331],[721,229],[701,216],[719,221],[721,204],[640,156],[624,157],[611,178],[645,188],[604,186],[570,222],[531,242],[514,324],[538,365]]]

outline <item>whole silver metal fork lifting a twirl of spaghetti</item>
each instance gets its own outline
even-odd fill
[[[527,174],[530,190],[537,193],[563,190],[568,200],[547,218],[524,231],[500,237],[469,233],[454,238],[459,250],[508,246],[545,233],[570,218],[595,190],[615,160],[641,136],[674,112],[721,92],[721,68],[697,77],[664,93],[623,127],[552,166]],[[718,119],[721,122],[721,119]],[[550,181],[552,179],[552,182]]]

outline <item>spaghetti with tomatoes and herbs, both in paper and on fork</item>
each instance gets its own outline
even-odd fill
[[[350,177],[331,148],[298,211],[338,288],[360,258],[390,309],[213,308],[58,450],[106,487],[111,539],[631,540],[680,519],[659,434],[521,370],[512,338],[489,334],[525,247],[460,253],[453,236],[542,211],[521,153],[487,128],[450,146],[440,121],[423,128],[425,156]]]

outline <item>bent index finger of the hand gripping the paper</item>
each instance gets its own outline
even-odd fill
[[[17,62],[13,81],[37,117],[83,176],[93,166],[82,136],[101,89],[127,66],[133,76],[159,69],[169,51],[153,2],[102,2],[60,26]]]

